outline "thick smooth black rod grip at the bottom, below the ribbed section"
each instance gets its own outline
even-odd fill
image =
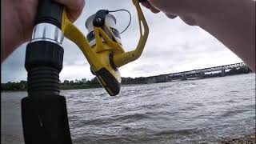
[[[22,127],[26,144],[72,144],[62,96],[22,98]]]

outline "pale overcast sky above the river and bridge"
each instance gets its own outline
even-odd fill
[[[139,29],[137,13],[131,0],[87,0],[81,17],[74,24],[86,34],[86,18],[100,9],[130,10],[131,26],[121,37],[125,50],[134,50],[139,38]],[[144,7],[142,10],[150,27],[150,35],[142,56],[120,68],[122,77],[146,77],[242,62],[226,46],[198,26],[187,26],[180,18],[171,20],[162,13],[152,14]],[[114,16],[117,18],[118,30],[122,31],[129,22],[129,15],[120,12],[114,13]],[[65,54],[61,81],[94,78],[78,46],[65,39],[63,47]],[[1,82],[26,80],[25,50],[26,44],[23,44],[2,63]]]

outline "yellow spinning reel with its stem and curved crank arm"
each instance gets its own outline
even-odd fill
[[[82,50],[90,64],[92,73],[96,75],[98,81],[111,96],[117,95],[120,91],[122,78],[118,68],[139,58],[149,33],[138,0],[133,0],[133,2],[138,11],[141,38],[136,50],[130,52],[123,50],[117,30],[105,22],[107,14],[103,13],[106,11],[99,10],[96,13],[93,18],[93,30],[90,31],[91,34],[88,34],[87,38],[68,20],[66,10],[62,14],[62,32],[66,38],[69,38]],[[86,23],[88,24],[88,22]],[[142,32],[142,26],[144,32]],[[92,39],[94,43],[91,43]]]

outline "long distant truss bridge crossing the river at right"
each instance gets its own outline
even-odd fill
[[[173,74],[162,74],[154,77],[148,77],[147,82],[148,83],[154,83],[154,82],[170,82],[170,81],[176,81],[176,80],[186,80],[186,79],[194,79],[194,78],[209,78],[209,77],[216,77],[216,76],[225,76],[233,74],[229,71],[233,71],[233,73],[249,73],[250,69],[244,62],[241,63],[234,63],[230,65],[225,66],[214,66],[199,70],[189,70],[189,71],[183,71]],[[219,73],[217,73],[219,71]],[[228,72],[226,72],[228,71]],[[213,74],[206,74],[209,72],[213,72]]]

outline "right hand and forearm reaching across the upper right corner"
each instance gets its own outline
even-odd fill
[[[255,65],[255,0],[147,0],[142,5],[168,18],[200,26],[232,50],[252,70]]]

